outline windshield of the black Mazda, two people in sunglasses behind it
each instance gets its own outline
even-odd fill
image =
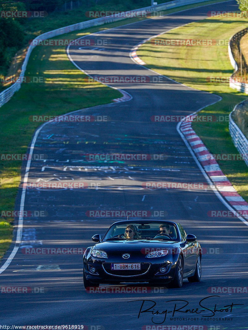
[[[163,240],[178,240],[175,225],[166,222],[126,222],[110,227],[104,240],[138,240],[155,237]]]

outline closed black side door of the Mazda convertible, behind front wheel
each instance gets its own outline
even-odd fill
[[[182,241],[186,240],[186,232],[180,223],[177,223]],[[184,255],[184,273],[188,273],[195,269],[196,262],[196,242],[181,243],[181,248]]]

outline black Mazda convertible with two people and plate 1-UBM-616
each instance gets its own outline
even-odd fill
[[[86,289],[100,283],[149,282],[181,287],[183,279],[199,282],[201,247],[195,235],[179,223],[163,220],[129,220],[113,223],[103,238],[84,253]]]

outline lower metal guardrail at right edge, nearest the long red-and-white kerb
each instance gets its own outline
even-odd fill
[[[240,154],[248,154],[248,141],[244,134],[241,132],[241,130],[238,128],[238,126],[235,124],[233,120],[234,111],[244,102],[247,102],[247,100],[244,100],[238,104],[235,105],[235,108],[232,110],[232,112],[229,114],[229,132],[232,138],[232,141],[234,143],[234,146],[238,149]],[[246,158],[246,157],[245,157]],[[244,159],[246,165],[248,166],[248,160]]]

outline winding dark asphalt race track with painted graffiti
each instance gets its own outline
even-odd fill
[[[217,102],[218,97],[165,77],[162,82],[156,82],[159,76],[135,64],[129,52],[142,40],[202,19],[211,10],[232,11],[237,10],[237,6],[234,1],[212,4],[95,33],[91,39],[107,40],[107,45],[101,49],[70,47],[72,60],[91,76],[149,76],[151,82],[112,83],[128,92],[132,99],[76,113],[108,116],[107,122],[53,122],[40,130],[33,152],[45,154],[46,160],[31,162],[28,182],[86,182],[88,188],[26,189],[24,210],[45,211],[46,216],[24,217],[21,244],[9,267],[0,275],[0,282],[2,287],[29,287],[31,292],[1,293],[1,324],[83,324],[91,330],[141,330],[149,329],[146,325],[157,326],[159,323],[163,326],[204,325],[197,329],[206,330],[248,329],[248,294],[213,293],[208,289],[248,287],[248,226],[238,218],[209,217],[207,212],[210,210],[227,210],[211,189],[142,187],[143,182],[153,181],[207,184],[177,132],[177,122],[156,123],[150,117],[188,115]],[[112,163],[88,161],[83,156],[113,152],[165,156],[160,160]],[[20,198],[21,189],[17,210]],[[180,222],[187,233],[197,236],[204,248],[201,282],[184,280],[181,289],[165,287],[160,292],[87,293],[83,287],[81,254],[23,253],[24,248],[31,247],[85,249],[93,246],[91,236],[103,235],[109,225],[118,220],[110,216],[90,217],[89,211],[96,210],[143,210],[149,214],[144,218]],[[13,247],[14,244],[1,265]],[[209,296],[213,297],[204,301],[205,311],[196,313],[200,300]],[[170,320],[172,313],[169,311],[173,310],[175,302],[168,301],[175,299],[188,301],[189,305],[175,312]],[[141,313],[138,318],[142,300],[155,301],[154,309],[161,314]],[[185,305],[177,303],[177,308]],[[243,305],[235,305],[231,311],[230,308],[226,311],[224,307],[232,303]],[[151,307],[151,302],[146,304],[147,308]],[[218,311],[213,315],[211,310],[215,305]],[[162,312],[166,309],[168,314],[164,319]],[[186,309],[190,311],[183,313]]]

